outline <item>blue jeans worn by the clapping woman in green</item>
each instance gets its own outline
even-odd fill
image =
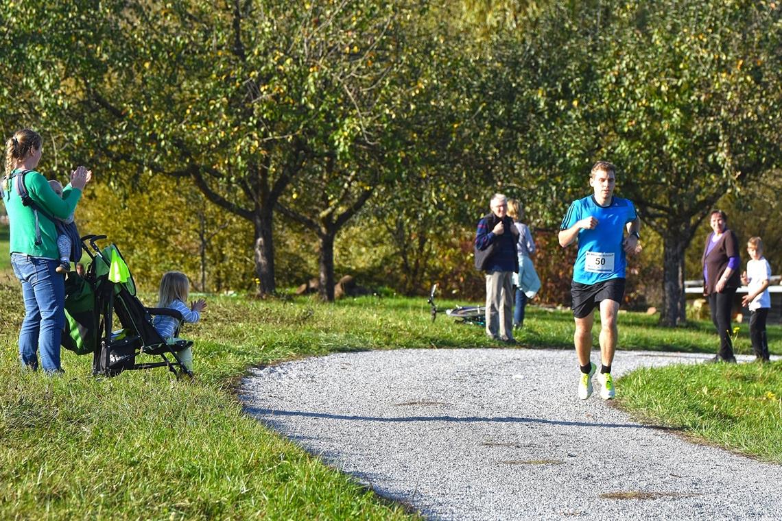
[[[55,373],[59,366],[59,343],[65,326],[65,277],[55,270],[59,261],[11,254],[11,266],[22,283],[24,320],[19,333],[19,357],[23,366],[41,366]]]

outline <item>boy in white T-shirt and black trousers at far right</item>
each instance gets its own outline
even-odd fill
[[[771,308],[769,280],[771,266],[763,257],[763,241],[752,237],[747,241],[747,252],[751,259],[747,262],[747,271],[741,273],[741,283],[749,286],[748,293],[741,299],[741,305],[748,305],[752,312],[749,318],[749,337],[752,339],[752,351],[755,362],[769,362],[769,341],[766,337],[766,317]]]

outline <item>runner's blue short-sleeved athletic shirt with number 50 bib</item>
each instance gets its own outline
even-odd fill
[[[630,199],[613,196],[611,204],[601,206],[594,195],[572,202],[560,229],[567,230],[589,216],[597,219],[594,230],[579,230],[579,255],[573,266],[573,280],[580,284],[596,284],[604,280],[625,277],[627,259],[622,241],[625,225],[637,219]]]

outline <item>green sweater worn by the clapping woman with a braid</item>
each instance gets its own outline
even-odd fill
[[[16,173],[20,170],[14,170]],[[57,230],[51,219],[38,214],[38,224],[41,227],[41,244],[35,244],[35,216],[33,210],[22,204],[14,186],[15,180],[9,183],[5,190],[5,211],[8,212],[10,223],[10,253],[25,253],[45,259],[59,259],[57,252]],[[50,216],[66,219],[81,198],[81,190],[68,184],[60,198],[49,186],[48,180],[41,173],[32,170],[24,177],[24,185],[30,198]],[[5,188],[5,187],[4,187]]]

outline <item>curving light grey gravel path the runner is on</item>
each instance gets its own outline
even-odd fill
[[[305,450],[430,519],[782,519],[782,466],[637,423],[599,398],[597,378],[580,401],[575,356],[335,354],[254,370],[240,398]],[[619,351],[613,367],[620,376],[705,358]]]

